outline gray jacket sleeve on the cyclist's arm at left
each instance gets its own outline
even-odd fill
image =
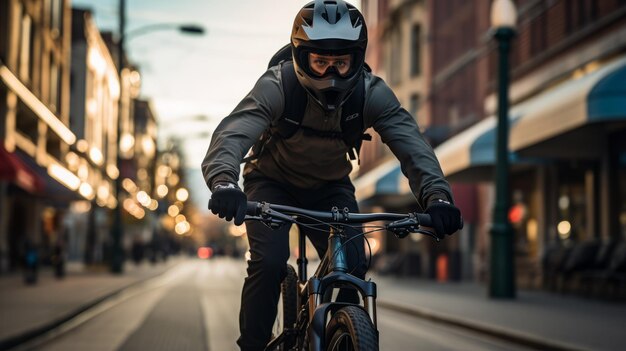
[[[271,121],[283,113],[284,97],[279,75],[280,69],[277,68],[265,72],[213,132],[202,161],[202,173],[209,188],[216,179],[237,182],[246,153]]]

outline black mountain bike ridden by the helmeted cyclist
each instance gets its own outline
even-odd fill
[[[254,201],[248,202],[246,213],[246,220],[261,221],[272,228],[285,224],[310,226],[300,218],[330,227],[326,254],[308,280],[305,235],[299,234],[298,272],[287,265],[287,276],[281,284],[282,311],[279,308],[277,316],[282,320],[281,330],[265,350],[378,350],[376,284],[349,274],[345,245],[359,235],[378,230],[391,231],[399,238],[420,233],[440,240],[433,231],[423,229],[431,226],[431,220],[421,213],[349,213],[347,208],[336,207],[320,212]],[[386,224],[346,240],[345,227],[375,221]],[[335,288],[356,289],[362,305],[333,301]]]

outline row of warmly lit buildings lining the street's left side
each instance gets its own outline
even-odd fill
[[[156,121],[147,106],[135,130],[141,78],[128,63],[119,73],[117,52],[69,0],[0,1],[0,272],[28,250],[105,262],[111,210],[130,198],[115,194],[118,156],[154,191]]]

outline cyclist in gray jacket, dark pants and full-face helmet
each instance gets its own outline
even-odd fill
[[[244,156],[276,121],[291,117],[282,116],[286,92],[281,65],[286,63],[271,67],[213,133],[202,163],[212,192],[213,213],[241,225],[247,200],[320,211],[337,206],[358,212],[348,177],[352,170],[346,157],[349,146],[337,135],[342,132],[342,109],[351,107],[346,106],[351,94],[357,86],[364,86],[363,126],[373,127],[399,159],[417,203],[432,216],[435,231],[444,236],[459,229],[460,211],[453,204],[432,148],[391,89],[364,69],[366,46],[366,25],[354,6],[342,0],[317,0],[299,11],[291,34],[291,52],[297,82],[308,99],[301,125],[289,137],[273,134],[265,138],[263,151],[245,164],[242,191],[237,180]],[[288,228],[272,230],[250,221],[246,229],[251,259],[243,286],[237,343],[242,350],[262,350],[271,338],[280,282],[286,274]],[[318,253],[325,252],[326,237],[310,228],[300,230]],[[347,247],[348,265],[353,275],[364,278],[364,242],[362,238],[353,242],[355,245]],[[340,298],[355,297],[350,292],[342,294]]]

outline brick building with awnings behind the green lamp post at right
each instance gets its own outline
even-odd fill
[[[570,255],[583,245],[610,252],[623,236],[620,157],[626,111],[620,106],[626,106],[626,95],[616,82],[624,75],[626,9],[623,1],[515,3],[509,219],[517,281],[537,288],[554,269],[592,267],[595,263],[583,256]],[[444,65],[433,72],[432,104],[433,118],[443,116],[450,128],[449,138],[436,148],[444,172],[455,183],[475,187],[472,261],[475,276],[484,280],[497,111],[498,56],[489,33],[490,2],[437,1],[433,6],[434,31],[463,28],[474,38],[473,45],[461,39],[464,48],[433,51],[433,62]],[[439,84],[445,86],[441,92]]]

